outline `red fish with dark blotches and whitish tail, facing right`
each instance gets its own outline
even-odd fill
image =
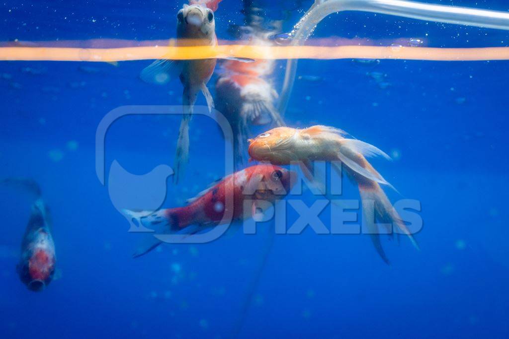
[[[237,171],[213,184],[183,207],[160,209],[147,215],[145,211],[124,210],[139,225],[162,225],[164,233],[178,232],[190,226],[213,227],[232,221],[254,217],[266,208],[264,202],[284,198],[296,181],[291,170],[269,164],[254,165]],[[231,198],[231,204],[228,199]],[[248,210],[244,210],[247,204]],[[228,214],[227,214],[228,213]],[[230,214],[231,213],[231,214]],[[229,217],[231,218],[225,218]],[[227,219],[227,220],[223,220]],[[155,249],[161,240],[140,246],[133,257],[140,257]]]

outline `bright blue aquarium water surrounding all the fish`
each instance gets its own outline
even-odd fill
[[[504,1],[428,2],[509,9]],[[8,1],[0,4],[0,41],[167,39],[175,36],[181,5]],[[285,19],[284,31],[310,5],[265,4],[270,17]],[[241,9],[240,2],[220,4],[220,39],[233,39],[228,25],[243,23]],[[313,38],[327,37],[421,38],[430,47],[509,42],[500,30],[366,13],[326,18]],[[112,204],[107,180],[102,186],[96,176],[96,129],[110,110],[182,102],[178,82],[157,87],[138,79],[148,64],[0,62],[0,177],[40,183],[61,271],[41,293],[20,283],[15,266],[30,202],[3,191],[2,337],[227,338],[239,321],[269,227],[206,244],[164,245],[134,260],[137,236]],[[284,61],[277,66],[279,90]],[[508,72],[507,61],[381,60],[370,68],[350,59],[301,60],[297,76],[322,79],[296,80],[287,124],[341,128],[392,155],[393,162],[373,164],[400,192],[387,191],[393,201],[421,202],[421,251],[404,237],[400,244],[383,237],[388,266],[366,235],[317,235],[309,228],[276,235],[239,337],[507,337]],[[106,178],[113,160],[138,175],[172,165],[179,120],[144,115],[115,122],[105,143]],[[168,182],[164,206],[183,205],[222,176],[223,149],[211,120],[194,118],[185,180],[177,187]],[[346,199],[358,199],[347,180],[344,186]],[[304,196],[309,205],[314,199]],[[321,217],[330,224],[328,209]],[[290,213],[288,224],[296,219]]]

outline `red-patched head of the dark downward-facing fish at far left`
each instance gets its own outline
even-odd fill
[[[38,240],[23,251],[17,267],[21,281],[36,292],[42,291],[53,279],[56,262],[50,235],[43,229],[38,233]]]

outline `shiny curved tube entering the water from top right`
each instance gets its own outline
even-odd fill
[[[302,45],[326,16],[342,11],[389,14],[418,20],[509,30],[509,13],[402,0],[315,0],[290,33],[292,46]],[[297,60],[289,59],[281,90],[279,113],[285,113],[292,93]]]

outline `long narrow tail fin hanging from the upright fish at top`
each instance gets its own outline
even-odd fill
[[[179,137],[177,139],[177,152],[175,154],[175,175],[173,181],[179,182],[183,176],[187,162],[189,161],[189,122],[191,121],[194,103],[196,102],[197,91],[184,87],[184,94],[182,98],[184,115],[180,122]]]

